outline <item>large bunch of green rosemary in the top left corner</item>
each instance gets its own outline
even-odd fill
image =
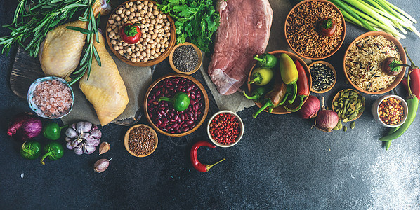
[[[1,53],[8,55],[12,45],[18,44],[37,57],[39,45],[48,31],[70,20],[74,13],[88,6],[89,0],[19,0],[13,16],[11,34],[0,37]]]

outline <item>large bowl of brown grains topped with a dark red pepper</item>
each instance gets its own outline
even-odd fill
[[[284,34],[291,50],[297,55],[306,59],[325,59],[343,44],[346,23],[333,3],[306,0],[290,10]]]

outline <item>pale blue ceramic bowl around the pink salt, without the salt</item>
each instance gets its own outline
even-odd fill
[[[34,90],[37,87],[37,85],[39,85],[40,83],[42,83],[44,81],[48,81],[48,80],[58,80],[61,83],[64,83],[65,85],[67,85],[67,87],[70,88],[70,92],[72,92],[72,100],[73,101],[72,101],[72,105],[70,105],[70,109],[66,113],[61,113],[59,116],[51,116],[51,117],[46,116],[41,111],[41,109],[39,109],[37,104],[32,102],[32,97],[34,97]],[[29,87],[29,90],[27,91],[27,102],[29,104],[29,107],[32,109],[32,111],[37,113],[37,115],[40,116],[41,118],[60,119],[60,118],[63,118],[64,116],[67,116],[67,114],[70,113],[70,111],[72,111],[73,104],[74,104],[74,93],[73,93],[72,87],[63,78],[59,78],[59,77],[56,77],[56,76],[46,76],[46,77],[41,77],[41,78],[38,78],[37,80],[34,80],[34,82],[31,84],[31,86]]]

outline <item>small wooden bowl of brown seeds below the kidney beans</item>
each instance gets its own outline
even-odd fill
[[[147,125],[133,125],[124,136],[124,146],[131,155],[146,157],[157,148],[157,134]]]

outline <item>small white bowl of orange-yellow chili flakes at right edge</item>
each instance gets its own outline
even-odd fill
[[[402,97],[388,94],[376,99],[372,115],[376,122],[385,127],[398,127],[407,119],[408,106]]]

